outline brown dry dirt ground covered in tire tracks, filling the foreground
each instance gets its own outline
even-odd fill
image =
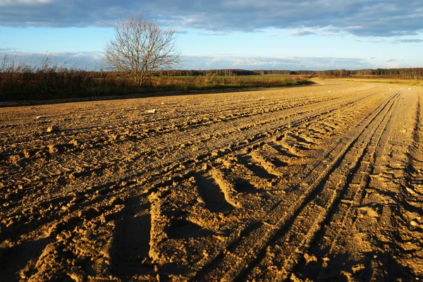
[[[0,280],[423,278],[422,99],[323,80],[1,108]]]

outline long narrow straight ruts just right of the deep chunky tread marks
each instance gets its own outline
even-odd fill
[[[370,134],[364,135],[363,137],[367,140],[362,140],[360,142],[360,147],[358,149],[358,152],[354,152],[352,149],[350,151],[350,155],[357,154],[355,157],[353,156],[346,156],[343,159],[343,162],[345,164],[340,164],[339,167],[343,168],[345,167],[345,172],[341,176],[336,176],[336,173],[332,174],[330,178],[326,181],[325,186],[329,185],[329,188],[327,189],[329,192],[326,192],[326,187],[319,192],[319,195],[312,200],[312,202],[309,203],[309,206],[318,207],[315,211],[313,208],[311,210],[305,209],[298,215],[298,218],[301,218],[298,221],[298,227],[295,227],[295,223],[290,228],[290,231],[284,236],[284,238],[281,238],[278,240],[275,245],[278,246],[287,246],[288,244],[286,241],[293,240],[294,237],[298,238],[300,237],[300,241],[302,242],[299,245],[296,245],[293,247],[290,245],[288,247],[288,250],[278,250],[283,255],[278,260],[283,264],[283,271],[281,274],[279,274],[276,279],[280,280],[282,278],[287,278],[290,274],[290,272],[293,271],[293,269],[298,265],[300,259],[302,259],[302,256],[304,253],[309,249],[309,245],[317,240],[317,235],[321,231],[321,228],[323,226],[330,226],[329,222],[331,221],[331,216],[333,214],[333,210],[335,207],[338,206],[339,200],[341,197],[345,199],[345,196],[352,196],[351,198],[345,199],[343,203],[348,204],[348,208],[344,215],[343,221],[336,221],[336,223],[341,223],[341,226],[336,226],[336,231],[334,233],[343,231],[343,223],[345,222],[345,218],[350,213],[350,209],[353,206],[353,204],[357,204],[360,202],[360,199],[363,197],[363,192],[367,188],[370,180],[370,175],[372,174],[374,170],[374,161],[376,158],[376,154],[384,147],[384,145],[381,145],[381,139],[386,134],[386,128],[388,126],[388,123],[391,121],[391,117],[393,115],[393,112],[396,109],[396,104],[398,103],[398,97],[395,98],[395,100],[392,102],[392,104],[388,107],[386,114],[384,114],[381,117],[381,121],[374,121],[375,124],[374,128],[372,129]],[[354,159],[352,164],[348,164],[348,159]],[[340,169],[341,170],[341,169]],[[336,180],[331,180],[331,178]],[[336,184],[338,183],[338,184]],[[332,185],[336,185],[335,188],[331,188]],[[325,194],[328,194],[325,199]],[[324,204],[324,202],[326,203]],[[323,206],[323,209],[321,207]],[[309,226],[309,223],[305,219],[315,219],[312,221],[312,225]],[[295,230],[295,233],[293,233],[293,230]],[[302,231],[300,231],[302,230]],[[302,234],[302,235],[298,235]],[[336,245],[337,238],[339,234],[336,234],[334,237],[331,236],[331,233],[326,235],[325,240],[332,241],[331,249],[329,249],[329,252],[331,252],[334,245]],[[295,241],[295,240],[294,240]],[[319,240],[317,240],[319,241]],[[286,247],[283,247],[286,248]],[[326,255],[324,257],[329,257],[329,255]],[[272,263],[275,262],[276,259],[273,260]],[[276,261],[277,262],[277,261]],[[319,277],[317,278],[319,280]]]

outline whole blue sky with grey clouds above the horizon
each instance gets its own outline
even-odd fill
[[[176,30],[180,69],[423,67],[422,0],[0,0],[0,55],[106,68],[137,15]]]

